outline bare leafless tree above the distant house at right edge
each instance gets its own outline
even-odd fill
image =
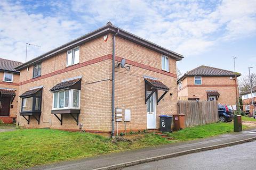
[[[252,87],[255,87],[256,86],[256,74],[255,73],[251,73],[251,79],[252,79]],[[245,92],[247,90],[250,90],[251,86],[250,86],[249,75],[243,75],[238,80],[238,84],[239,84],[239,91],[240,92]]]

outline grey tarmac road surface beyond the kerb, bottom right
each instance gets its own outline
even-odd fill
[[[249,142],[227,148],[163,159],[158,162],[127,167],[123,170],[255,169],[255,155],[256,142]]]

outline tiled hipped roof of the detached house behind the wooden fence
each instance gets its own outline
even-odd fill
[[[186,77],[202,76],[202,77],[235,77],[235,72],[218,69],[210,66],[201,65],[196,67],[193,70],[185,73],[177,82],[185,79]],[[236,73],[236,77],[239,77],[241,74]]]

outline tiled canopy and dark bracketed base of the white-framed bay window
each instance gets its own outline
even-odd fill
[[[60,83],[56,84],[53,88],[51,88],[50,91],[55,93],[58,91],[69,90],[69,89],[81,90],[81,80],[82,80],[82,76],[63,80]],[[74,108],[53,109],[51,113],[58,118],[61,125],[63,120],[63,114],[69,114],[71,117],[74,118],[74,120],[78,125],[80,109],[74,109]],[[57,114],[59,114],[60,117],[57,116]]]

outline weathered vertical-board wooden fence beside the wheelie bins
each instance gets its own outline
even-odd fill
[[[186,127],[218,122],[219,119],[217,101],[179,100],[177,111],[185,114]]]

